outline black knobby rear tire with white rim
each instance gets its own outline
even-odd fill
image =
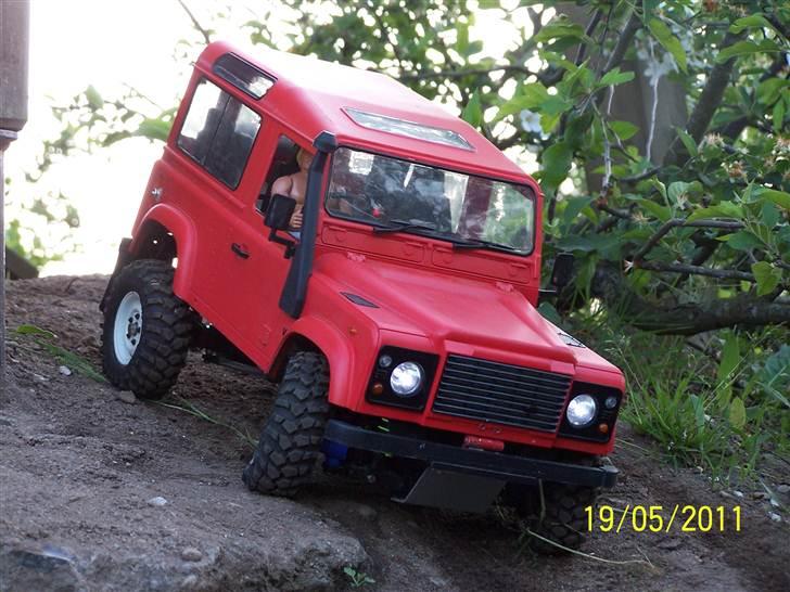
[[[113,385],[141,399],[158,399],[173,387],[196,326],[196,314],[173,294],[173,274],[166,261],[139,259],[110,280],[102,366]],[[128,314],[125,335],[117,334],[127,322],[117,324],[118,313]]]

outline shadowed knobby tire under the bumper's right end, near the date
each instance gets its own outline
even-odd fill
[[[555,541],[562,546],[578,550],[585,541],[587,514],[585,507],[595,506],[598,489],[575,487],[563,484],[544,482],[543,512],[539,493],[527,524],[530,530]],[[543,516],[541,516],[543,514]],[[530,549],[545,555],[556,555],[564,551],[536,537],[526,535]]]

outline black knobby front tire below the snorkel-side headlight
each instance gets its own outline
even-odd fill
[[[320,454],[329,415],[329,365],[320,353],[298,351],[285,368],[258,446],[242,476],[251,490],[294,496]]]

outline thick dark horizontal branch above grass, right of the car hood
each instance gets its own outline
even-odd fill
[[[611,263],[598,266],[591,288],[594,296],[622,310],[632,325],[664,335],[695,335],[735,325],[790,324],[790,304],[755,298],[753,294],[699,304],[652,304],[634,294]]]

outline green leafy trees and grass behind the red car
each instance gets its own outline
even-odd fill
[[[194,26],[177,44],[189,68],[233,7],[178,1]],[[504,55],[470,35],[483,11],[519,31]],[[730,476],[767,452],[787,469],[787,2],[280,0],[252,12],[252,43],[383,72],[509,154],[533,153],[544,259],[576,256],[574,282],[541,312],[625,368],[628,419],[672,459]],[[77,145],[162,142],[176,104],[88,87],[55,107],[62,130],[41,169]],[[50,197],[30,209],[52,216]]]

